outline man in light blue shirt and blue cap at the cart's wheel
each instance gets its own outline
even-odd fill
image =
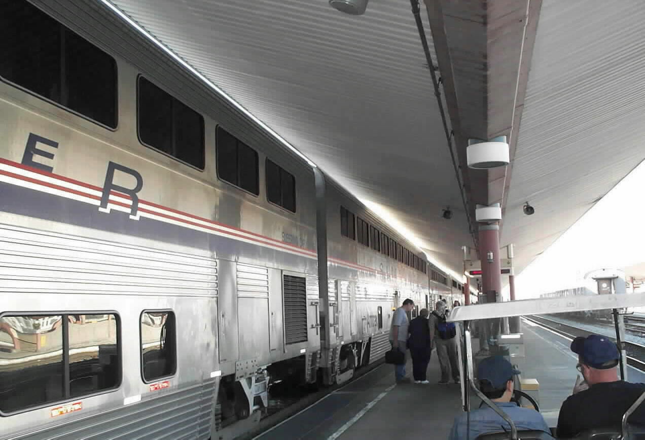
[[[504,357],[499,355],[486,357],[477,367],[479,389],[508,414],[517,430],[539,430],[551,434],[542,414],[511,402],[515,374],[519,374],[519,371],[513,369],[511,363]],[[510,432],[511,429],[508,423],[488,406],[470,412],[470,430],[468,430],[467,417],[468,414],[465,412],[455,417],[449,440],[472,440],[480,434]]]

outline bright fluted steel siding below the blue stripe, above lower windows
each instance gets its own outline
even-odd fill
[[[217,261],[0,226],[0,292],[217,295]]]

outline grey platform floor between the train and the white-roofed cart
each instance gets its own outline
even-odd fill
[[[406,370],[412,377],[410,359]],[[428,385],[395,385],[394,367],[381,365],[255,439],[445,439],[461,393],[454,383],[438,385],[439,378],[436,352]]]

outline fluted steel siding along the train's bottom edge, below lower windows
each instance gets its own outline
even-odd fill
[[[208,439],[214,392],[210,381],[15,439]]]

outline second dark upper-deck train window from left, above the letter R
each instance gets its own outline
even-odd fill
[[[204,169],[204,117],[139,76],[139,139],[200,170]]]

